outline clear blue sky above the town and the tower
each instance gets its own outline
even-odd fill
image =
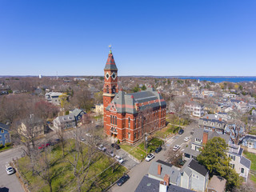
[[[256,76],[256,1],[0,0],[0,75]]]

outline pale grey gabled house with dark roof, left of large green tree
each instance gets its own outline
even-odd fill
[[[194,159],[188,160],[182,169],[180,186],[189,190],[205,191],[208,185],[209,173],[208,170]]]

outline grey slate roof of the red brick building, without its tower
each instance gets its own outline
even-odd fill
[[[146,108],[157,108],[166,106],[161,94],[153,88],[147,88],[141,92],[125,94],[122,90],[118,91],[106,110],[116,110],[118,113],[137,114],[138,110]]]

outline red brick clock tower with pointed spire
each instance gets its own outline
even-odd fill
[[[118,93],[118,68],[115,65],[114,57],[110,48],[110,54],[107,58],[106,66],[104,68],[104,126],[106,124],[106,107],[110,104],[116,93]]]

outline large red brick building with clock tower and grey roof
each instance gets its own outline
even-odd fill
[[[118,90],[118,68],[110,54],[104,68],[104,131],[120,142],[138,142],[143,135],[166,126],[166,102],[158,91],[147,88],[126,94]]]

